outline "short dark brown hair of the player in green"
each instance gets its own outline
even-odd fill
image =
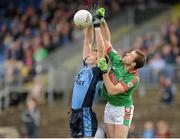
[[[136,63],[136,66],[134,67],[134,69],[139,69],[139,68],[142,68],[145,65],[146,56],[139,49],[136,49],[135,52],[136,52],[137,56],[136,56],[136,58],[134,60],[134,62]]]

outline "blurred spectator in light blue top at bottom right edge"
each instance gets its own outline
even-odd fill
[[[144,132],[143,138],[154,138],[155,137],[155,129],[152,121],[147,121],[144,124]]]

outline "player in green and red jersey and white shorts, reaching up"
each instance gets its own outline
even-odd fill
[[[105,10],[99,8],[100,18],[104,17]],[[144,66],[145,55],[140,50],[127,53],[123,58],[115,51],[111,44],[110,31],[105,20],[96,32],[101,31],[106,53],[111,61],[111,70],[104,57],[98,61],[98,67],[103,73],[102,96],[107,100],[104,111],[104,122],[108,137],[126,138],[133,117],[132,93],[138,88],[139,76],[137,69]],[[96,33],[97,35],[98,33]],[[104,49],[99,49],[103,53]]]

